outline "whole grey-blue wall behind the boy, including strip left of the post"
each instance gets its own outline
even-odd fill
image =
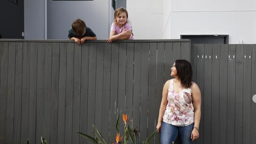
[[[110,0],[24,0],[25,39],[68,39],[68,31],[76,18],[83,19],[98,39],[107,39],[109,13],[113,13],[110,6]]]

